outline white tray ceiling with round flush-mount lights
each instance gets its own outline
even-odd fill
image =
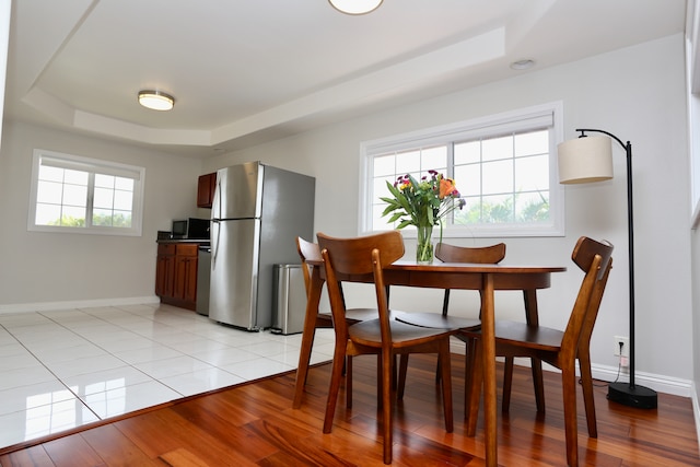
[[[685,30],[686,0],[14,0],[5,118],[212,155]],[[534,59],[530,70],[509,67]],[[175,96],[171,112],[137,103]]]

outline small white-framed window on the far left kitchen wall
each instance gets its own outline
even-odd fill
[[[35,150],[28,230],[141,235],[145,170]]]

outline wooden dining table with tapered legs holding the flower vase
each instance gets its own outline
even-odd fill
[[[312,268],[307,290],[306,316],[302,331],[302,346],[296,369],[293,408],[300,408],[303,399],[306,374],[311,359],[316,318],[320,302],[325,271],[323,261],[307,261]],[[494,339],[494,291],[522,291],[527,323],[538,324],[537,290],[547,289],[552,272],[563,272],[561,266],[534,265],[481,265],[464,262],[418,264],[400,259],[383,270],[387,285],[404,285],[434,289],[478,290],[481,294],[481,339],[483,375],[483,412],[486,464],[498,465],[497,427],[497,383],[495,383],[495,339]],[[372,276],[338,277],[341,281],[372,282]],[[541,367],[540,370],[541,371]],[[471,423],[474,425],[474,423]],[[467,433],[474,435],[475,433]]]

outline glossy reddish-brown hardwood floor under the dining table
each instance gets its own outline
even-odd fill
[[[376,360],[354,359],[353,408],[341,390],[332,433],[323,434],[330,365],[312,369],[304,402],[293,410],[294,373],[194,396],[102,422],[62,437],[0,451],[12,466],[370,466],[383,465],[377,441]],[[433,355],[411,358],[397,402],[394,465],[482,466],[481,422],[464,435],[463,358],[453,358],[455,431],[445,433]],[[499,365],[499,377],[502,367]],[[499,415],[499,464],[565,465],[559,375],[545,372],[547,412],[538,416],[527,369],[516,367],[511,409]],[[627,408],[595,389],[598,439],[588,439],[579,400],[579,456],[591,466],[700,465],[690,399],[658,395],[657,410]]]

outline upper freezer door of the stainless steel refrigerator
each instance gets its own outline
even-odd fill
[[[260,217],[262,166],[248,162],[217,172],[211,207],[212,219],[252,219]]]

